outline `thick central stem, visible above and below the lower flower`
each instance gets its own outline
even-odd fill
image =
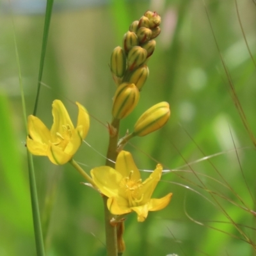
[[[119,134],[119,124],[120,120],[114,119],[111,125],[116,129],[115,136],[109,136],[109,145],[107,152],[106,165],[112,168],[115,168],[115,161],[118,153],[116,152],[116,147],[118,143],[118,134]],[[108,198],[103,196],[104,203],[104,216],[105,216],[105,232],[106,232],[106,249],[108,256],[117,256],[118,247],[117,247],[117,237],[116,237],[116,225],[111,225],[110,221],[115,217],[108,210],[107,206]]]

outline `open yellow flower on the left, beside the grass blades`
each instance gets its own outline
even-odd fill
[[[27,147],[31,154],[47,156],[54,164],[65,164],[72,159],[90,126],[86,109],[78,102],[76,104],[78,107],[76,128],[61,100],[54,100],[52,103],[51,131],[36,116],[28,116]]]

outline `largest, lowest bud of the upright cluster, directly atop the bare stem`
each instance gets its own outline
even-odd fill
[[[140,92],[135,84],[122,83],[116,89],[112,115],[116,119],[125,118],[138,104]]]

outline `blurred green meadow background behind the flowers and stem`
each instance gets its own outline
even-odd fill
[[[36,255],[12,17],[8,1],[0,4],[0,255]],[[28,115],[35,104],[45,4],[12,1]],[[52,100],[61,99],[76,122],[74,102],[81,102],[91,115],[86,141],[92,147],[84,143],[75,159],[86,172],[104,164],[104,125],[111,121],[115,93],[111,51],[122,45],[129,24],[147,10],[161,15],[162,31],[148,62],[150,76],[140,102],[122,122],[121,135],[132,130],[150,106],[163,100],[170,103],[168,124],[132,139],[125,149],[141,170],[154,170],[156,163],[172,170],[163,175],[154,196],[173,192],[173,198],[143,223],[136,221],[136,214],[128,216],[124,255],[256,255],[255,216],[249,211],[255,211],[256,157],[227,79],[231,77],[255,132],[255,65],[237,17],[238,10],[255,58],[253,1],[237,0],[237,8],[234,0],[56,1],[37,115],[51,127]],[[199,161],[217,153],[221,154]],[[83,178],[68,164],[54,166],[46,157],[34,160],[46,255],[105,255],[100,196],[83,186]],[[215,199],[206,188],[214,191]]]

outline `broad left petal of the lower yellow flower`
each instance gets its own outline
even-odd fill
[[[109,166],[100,166],[91,170],[92,179],[103,195],[118,196],[118,189],[122,175]]]

